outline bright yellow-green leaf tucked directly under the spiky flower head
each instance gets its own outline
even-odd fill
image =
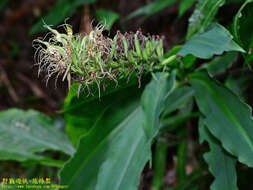
[[[112,100],[117,99],[120,101],[125,98],[125,95],[133,93],[133,91],[140,93],[142,89],[138,89],[137,83],[137,78],[130,80],[129,83],[119,81],[119,87],[117,88],[115,83],[112,83],[106,87],[105,91],[101,92],[100,98],[98,93],[87,97],[85,91],[81,91],[78,97],[79,84],[72,85],[62,110],[66,122],[66,132],[71,142],[75,146],[78,145],[80,136],[86,134],[94,123],[102,117],[108,106],[111,106]],[[145,79],[142,83],[145,84]],[[112,96],[108,96],[110,94]]]

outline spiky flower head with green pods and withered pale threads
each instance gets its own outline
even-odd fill
[[[47,41],[36,39],[34,42],[35,59],[39,72],[47,73],[47,81],[62,75],[62,81],[80,83],[87,87],[96,83],[100,89],[118,79],[129,79],[135,74],[140,79],[143,73],[161,69],[163,42],[159,36],[144,36],[141,31],[121,34],[113,39],[103,35],[104,26],[96,26],[89,34],[73,35],[69,25],[64,25],[66,33],[46,26],[51,38]],[[100,90],[99,90],[100,92]]]

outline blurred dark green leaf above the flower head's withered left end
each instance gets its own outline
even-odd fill
[[[77,7],[86,4],[94,3],[96,0],[58,0],[52,10],[43,16],[35,25],[32,26],[29,34],[45,31],[44,24],[56,26],[64,21],[67,17],[71,16]]]

